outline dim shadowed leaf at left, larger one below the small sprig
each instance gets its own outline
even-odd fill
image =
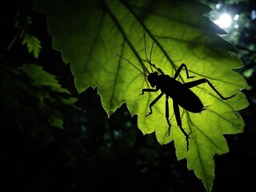
[[[50,125],[63,129],[63,117],[62,113],[58,111],[58,105],[71,106],[77,101],[77,98],[70,97],[69,90],[63,88],[53,74],[42,70],[42,66],[24,64],[19,68],[19,72],[26,74],[26,77],[30,79],[31,85],[41,90],[28,91],[31,94],[35,94],[40,101],[38,105],[46,114]],[[50,111],[50,106],[53,106],[55,110]]]

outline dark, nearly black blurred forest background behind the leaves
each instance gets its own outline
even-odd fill
[[[217,4],[217,1],[206,2],[212,7]],[[245,66],[239,73],[249,85],[242,92],[250,106],[239,111],[246,122],[244,133],[225,135],[230,152],[214,157],[213,191],[255,191],[256,25],[251,12],[256,6],[254,1],[220,2],[222,10],[240,15],[238,30],[230,31],[226,38],[241,53],[239,57]],[[174,143],[160,146],[154,134],[142,135],[137,117],[130,117],[125,104],[108,118],[97,89],[77,94],[70,66],[62,62],[58,51],[51,49],[46,15],[31,10],[32,3],[15,0],[0,3],[1,78],[10,80],[9,94],[0,94],[1,190],[205,191],[194,172],[187,170],[186,160],[177,161]],[[27,16],[32,18],[33,25],[14,27],[15,22],[22,23]],[[40,40],[42,50],[38,58],[22,46],[18,38],[22,27]],[[52,106],[52,110],[62,111],[63,130],[50,126],[43,118],[45,114],[40,111],[38,101],[16,83],[26,80],[15,79],[10,71],[24,63],[42,66],[78,97],[75,107]],[[12,103],[6,103],[6,97],[17,98],[20,106],[14,108]]]

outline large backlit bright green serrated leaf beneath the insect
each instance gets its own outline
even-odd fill
[[[192,9],[193,7],[193,9]],[[34,9],[47,14],[48,30],[53,47],[70,62],[78,92],[89,86],[98,87],[102,106],[110,115],[123,102],[130,114],[138,114],[138,126],[143,134],[155,132],[158,142],[174,141],[178,160],[186,158],[189,170],[202,179],[211,190],[214,179],[214,154],[225,154],[228,146],[223,134],[238,134],[244,122],[236,112],[248,106],[240,90],[246,81],[233,69],[242,67],[235,56],[234,46],[218,34],[224,30],[202,15],[210,8],[198,1],[68,1],[34,2]],[[146,34],[146,46],[143,34]],[[149,83],[134,66],[142,70],[141,62],[150,70],[146,60],[154,42],[151,62],[171,77],[186,63],[193,80],[207,78],[225,97],[223,101],[207,83],[191,90],[202,100],[206,110],[191,114],[180,107],[182,126],[190,134],[186,138],[177,126],[170,99],[171,130],[165,118],[165,97],[152,108],[149,104],[158,93],[142,93]],[[145,54],[146,52],[146,54]],[[130,65],[125,59],[134,64]],[[189,82],[182,70],[178,81]],[[190,98],[187,98],[190,99]]]

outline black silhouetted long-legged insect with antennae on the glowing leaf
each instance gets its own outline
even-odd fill
[[[144,43],[145,42],[145,37],[144,37]],[[212,90],[214,90],[214,92],[216,94],[218,94],[218,96],[220,98],[222,98],[223,100],[226,99],[230,99],[233,98],[235,94],[231,95],[230,97],[223,97],[222,94],[220,94],[218,92],[218,90],[215,89],[215,87],[211,84],[211,82],[209,80],[207,80],[206,78],[201,78],[192,82],[178,82],[176,80],[176,78],[178,78],[178,75],[180,74],[182,68],[184,67],[186,70],[186,78],[194,78],[194,76],[189,76],[186,64],[182,63],[181,66],[179,66],[178,70],[175,72],[174,77],[170,77],[167,74],[164,74],[163,71],[156,67],[154,64],[152,64],[150,62],[151,60],[151,53],[153,50],[153,45],[151,47],[150,50],[150,59],[147,58],[147,61],[150,64],[150,68],[152,70],[152,72],[150,73],[149,70],[147,70],[146,66],[141,62],[142,64],[142,68],[144,71],[146,71],[146,74],[144,74],[142,72],[142,70],[139,70],[137,66],[134,66],[133,63],[131,63],[129,60],[127,60],[126,58],[124,58],[127,62],[129,62],[132,66],[134,66],[137,70],[139,70],[143,75],[145,75],[147,77],[147,81],[150,82],[150,86],[152,88],[146,88],[146,89],[142,89],[142,94],[144,94],[145,92],[157,92],[158,90],[161,91],[161,93],[158,95],[157,98],[154,98],[154,100],[152,102],[150,102],[150,112],[146,115],[149,116],[150,114],[153,113],[152,111],[152,106],[154,106],[154,104],[156,102],[158,102],[158,100],[160,98],[162,98],[162,96],[165,94],[166,95],[166,122],[168,124],[168,135],[170,134],[170,120],[169,120],[169,102],[168,99],[172,98],[173,99],[173,109],[174,109],[174,115],[176,118],[176,122],[180,128],[180,130],[182,130],[182,133],[186,136],[186,149],[189,149],[189,134],[186,133],[186,131],[183,129],[182,127],[182,120],[181,120],[181,116],[180,116],[180,111],[179,111],[179,106],[181,106],[184,110],[190,111],[192,113],[201,113],[202,110],[205,110],[200,98],[198,98],[198,96],[196,94],[194,94],[194,92],[192,90],[190,90],[190,88],[194,87],[194,86],[198,86],[202,83],[207,83],[210,88]],[[145,54],[146,54],[146,46],[145,46]],[[122,56],[118,55],[120,58],[123,58]],[[152,66],[158,70],[158,72],[153,71]],[[154,88],[154,89],[153,89]]]

